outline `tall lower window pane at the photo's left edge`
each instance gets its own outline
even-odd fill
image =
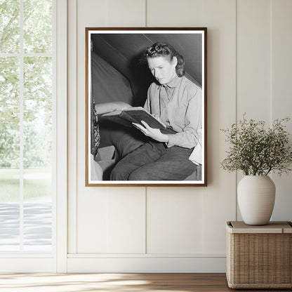
[[[19,251],[19,60],[0,58],[0,252]]]

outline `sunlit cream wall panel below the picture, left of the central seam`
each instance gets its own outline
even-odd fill
[[[144,190],[93,190],[78,200],[78,253],[144,253]]]

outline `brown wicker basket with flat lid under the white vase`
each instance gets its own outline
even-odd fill
[[[292,225],[227,222],[230,288],[292,288]]]

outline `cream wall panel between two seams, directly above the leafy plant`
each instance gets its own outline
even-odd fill
[[[237,119],[270,120],[271,62],[271,1],[237,0]]]

